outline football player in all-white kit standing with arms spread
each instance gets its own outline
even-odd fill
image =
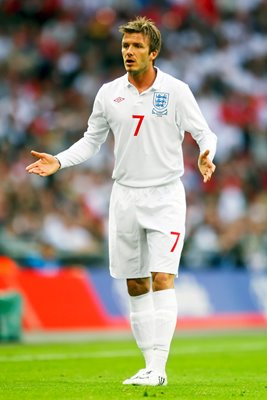
[[[189,87],[154,66],[161,35],[145,17],[120,27],[126,75],[104,84],[82,139],[52,156],[32,151],[26,169],[48,176],[93,156],[114,134],[110,201],[110,272],[127,281],[130,321],[145,368],[125,385],[166,385],[166,363],[177,322],[174,279],[185,234],[182,141],[200,148],[198,167],[210,180],[216,136]]]

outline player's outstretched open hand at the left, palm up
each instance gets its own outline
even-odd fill
[[[48,176],[59,170],[60,163],[58,159],[51,154],[38,153],[34,150],[31,151],[31,154],[38,158],[38,160],[26,167],[26,171],[28,171],[30,174]]]

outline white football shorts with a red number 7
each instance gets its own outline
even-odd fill
[[[178,274],[185,236],[186,201],[180,180],[132,188],[114,183],[110,199],[109,259],[114,278]]]

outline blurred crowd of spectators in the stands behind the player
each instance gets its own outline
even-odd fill
[[[112,137],[93,159],[28,175],[87,128],[102,83],[124,73],[118,26],[159,26],[156,65],[186,81],[218,135],[213,180],[184,141],[184,268],[267,270],[267,1],[0,0],[0,252],[39,268],[105,262]]]

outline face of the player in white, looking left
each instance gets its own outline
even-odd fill
[[[125,69],[138,75],[153,65],[157,52],[149,52],[149,39],[142,33],[125,33],[122,38],[122,57]]]

